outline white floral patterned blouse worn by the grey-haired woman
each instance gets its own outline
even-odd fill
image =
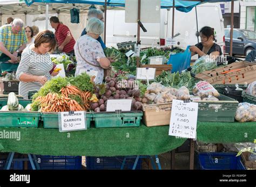
[[[78,47],[80,53],[78,51]],[[77,68],[75,76],[80,75],[84,72],[84,70],[98,71],[96,83],[102,83],[104,78],[104,69],[100,67],[97,59],[106,56],[104,54],[102,46],[100,45],[100,42],[90,37],[89,35],[83,35],[77,40],[74,46],[74,50],[77,58]],[[81,55],[87,62],[83,60]],[[95,66],[89,64],[88,62],[94,64]]]

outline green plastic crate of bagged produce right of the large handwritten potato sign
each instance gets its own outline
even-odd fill
[[[215,107],[218,105],[218,107]],[[212,108],[213,107],[213,108]],[[198,102],[198,121],[234,122],[238,101],[220,94],[218,101]]]

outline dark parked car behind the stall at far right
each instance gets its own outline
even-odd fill
[[[230,53],[230,28],[225,28],[226,53]],[[233,55],[247,56],[256,49],[256,32],[234,28],[233,29]]]

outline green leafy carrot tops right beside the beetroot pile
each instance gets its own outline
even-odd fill
[[[94,84],[91,82],[91,77],[86,73],[82,73],[76,77],[71,76],[67,81],[80,90],[86,90],[90,92],[94,90]]]

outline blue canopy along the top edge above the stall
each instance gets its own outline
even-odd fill
[[[25,0],[27,5],[33,3],[84,3],[84,4],[97,4],[105,5],[105,0]],[[181,12],[189,12],[194,6],[199,5],[200,1],[175,1],[175,7]],[[125,0],[107,0],[107,6],[125,6]],[[161,9],[167,9],[173,6],[172,0],[161,0]]]

